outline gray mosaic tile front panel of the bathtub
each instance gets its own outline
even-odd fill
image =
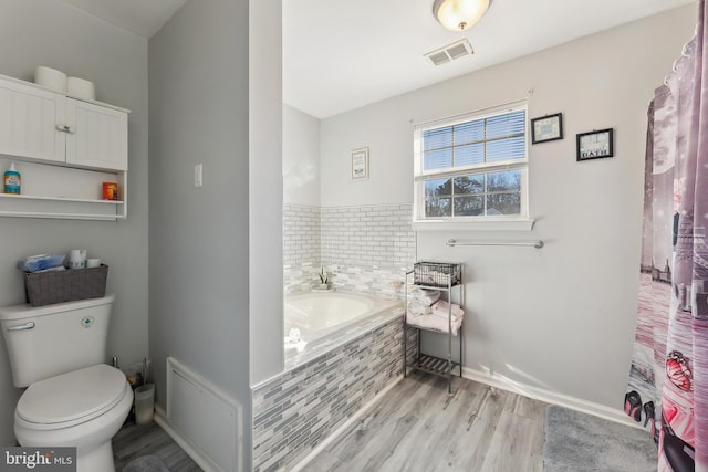
[[[402,374],[402,343],[397,317],[257,386],[252,470],[277,471],[304,459]]]

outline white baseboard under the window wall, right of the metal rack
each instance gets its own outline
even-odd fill
[[[551,405],[558,405],[561,407],[570,408],[571,410],[580,411],[582,413],[593,415],[595,417],[600,417],[610,421],[615,421],[628,427],[642,429],[642,426],[636,421],[633,421],[632,418],[626,416],[623,410],[610,408],[600,403],[594,403],[581,398],[571,397],[570,395],[559,394],[556,391],[519,384],[499,374],[490,375],[485,371],[464,367],[462,377],[488,385],[490,387],[500,388],[502,390],[533,398],[534,400],[544,401]]]

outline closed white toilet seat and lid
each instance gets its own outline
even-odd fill
[[[15,418],[32,429],[69,428],[111,410],[129,390],[121,370],[105,364],[85,367],[30,385]]]

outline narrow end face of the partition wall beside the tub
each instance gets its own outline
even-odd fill
[[[249,2],[250,384],[283,369],[281,0]],[[277,24],[279,28],[273,28]]]

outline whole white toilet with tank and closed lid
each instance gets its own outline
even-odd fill
[[[14,434],[27,447],[75,447],[77,472],[115,471],[111,439],[133,405],[125,375],[106,364],[114,296],[0,308],[12,380],[24,388]]]

